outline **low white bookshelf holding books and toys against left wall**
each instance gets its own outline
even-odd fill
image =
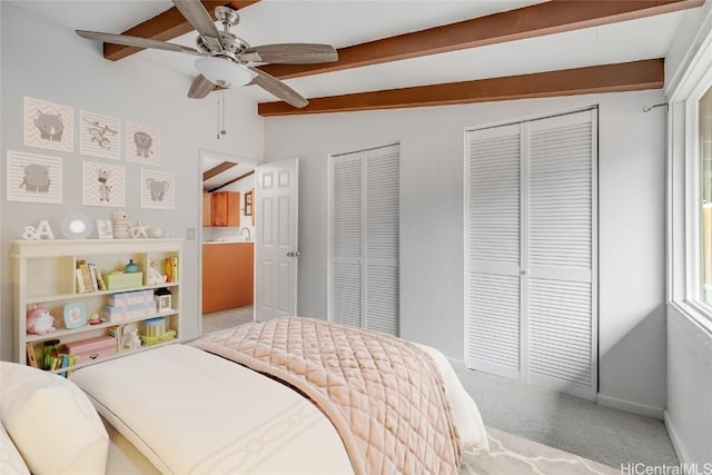
[[[167,343],[141,346],[138,349],[121,348],[116,355],[99,358],[96,362],[85,362],[70,367],[76,369],[110,358],[125,356],[130,353],[155,348],[160,345],[176,343],[182,339],[182,317],[180,297],[180,277],[182,274],[182,240],[181,239],[78,239],[78,240],[14,240],[11,243],[13,265],[13,321],[14,321],[14,353],[16,360],[27,364],[27,344],[41,348],[42,343],[59,339],[60,344],[83,340],[97,336],[109,335],[109,329],[118,325],[125,331],[140,328],[141,321],[157,316],[166,317],[167,329],[176,331],[176,338]],[[160,269],[165,274],[162,263],[167,257],[178,258],[178,275],[174,283],[148,285],[149,263],[156,259],[161,263]],[[78,260],[93,263],[101,273],[122,269],[132,259],[144,273],[142,285],[120,289],[93,290],[78,293],[75,269]],[[101,313],[112,294],[134,290],[155,290],[168,288],[171,293],[171,308],[121,321],[106,321],[99,325],[85,325],[80,328],[66,328],[63,320],[65,305],[82,301],[87,314]],[[44,335],[27,333],[27,311],[31,304],[46,304],[55,317],[56,331]],[[118,345],[120,346],[120,345]],[[36,352],[38,355],[41,350]],[[55,373],[68,370],[61,368]]]

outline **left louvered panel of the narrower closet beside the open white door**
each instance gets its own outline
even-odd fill
[[[333,321],[362,326],[362,164],[364,155],[334,157],[329,315]]]

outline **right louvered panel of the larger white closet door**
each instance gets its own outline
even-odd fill
[[[595,398],[596,113],[530,122],[528,380]]]

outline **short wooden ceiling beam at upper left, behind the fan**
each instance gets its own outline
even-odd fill
[[[215,7],[229,6],[235,10],[239,10],[249,7],[253,3],[257,3],[259,0],[201,0],[206,10],[210,13],[210,17],[215,19]],[[172,7],[156,17],[137,24],[123,31],[121,34],[128,34],[131,37],[149,38],[151,40],[170,41],[178,38],[181,34],[186,34],[190,31],[195,31],[188,23],[186,18],[180,14],[180,11],[176,7]],[[144,48],[127,47],[122,44],[103,43],[103,57],[111,61],[126,58],[134,53],[144,50]]]

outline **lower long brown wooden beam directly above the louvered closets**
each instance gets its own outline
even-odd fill
[[[257,111],[263,117],[274,117],[623,92],[661,89],[664,79],[664,60],[650,59],[504,78],[323,97],[309,99],[309,105],[301,109],[286,102],[263,102],[258,105]]]

